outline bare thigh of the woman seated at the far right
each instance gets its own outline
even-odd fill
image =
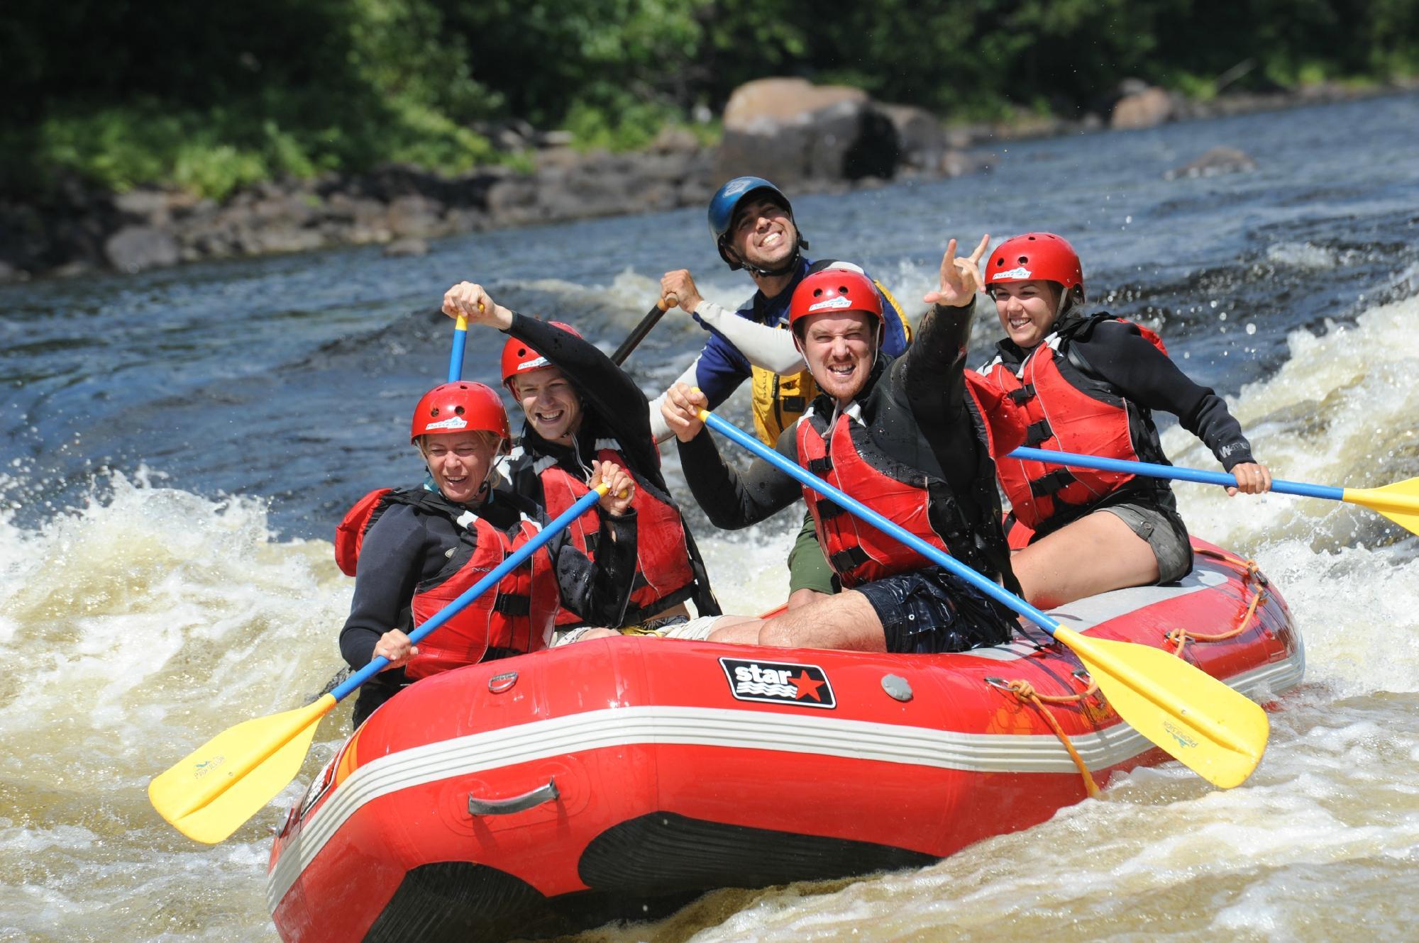
[[[1081,518],[1010,556],[1020,590],[1040,608],[1158,581],[1152,547],[1107,510]]]

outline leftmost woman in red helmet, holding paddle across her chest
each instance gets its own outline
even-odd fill
[[[546,648],[563,607],[619,624],[636,570],[634,482],[624,468],[595,462],[592,485],[610,485],[600,501],[597,560],[563,532],[412,647],[407,632],[414,625],[502,563],[549,518],[495,486],[497,461],[508,451],[508,415],[492,389],[463,381],[434,387],[414,407],[409,441],[427,468],[424,484],[370,492],[335,536],[335,562],[355,577],[341,654],[350,668],[363,668],[375,655],[390,662],[360,688],[355,726],[419,678]]]

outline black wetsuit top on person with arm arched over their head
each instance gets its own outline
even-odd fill
[[[657,499],[678,510],[675,499],[666,486],[666,476],[660,469],[660,451],[650,433],[650,404],[636,381],[592,343],[551,323],[514,312],[512,326],[507,333],[526,342],[555,364],[575,387],[583,410],[580,428],[572,437],[575,448],[549,442],[536,434],[531,423],[524,424],[519,440],[522,451],[511,464],[512,489],[542,503],[542,478],[534,468],[538,458],[555,458],[562,471],[585,479],[590,475],[592,459],[596,458],[596,442],[610,438],[619,444],[627,471],[640,481],[639,486],[648,486]],[[695,610],[701,615],[719,615],[722,610],[710,588],[704,560],[684,515],[681,523],[685,528],[690,567],[695,579],[684,598],[694,600]],[[667,600],[660,607],[668,608],[680,601],[683,598]]]

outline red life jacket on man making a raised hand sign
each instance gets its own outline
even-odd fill
[[[796,435],[799,465],[849,495],[870,495],[873,510],[931,546],[952,553],[931,522],[932,499],[941,498],[939,486],[944,482],[934,482],[925,472],[881,454],[867,427],[857,420],[856,406],[840,413],[829,431],[815,404],[799,420]],[[823,556],[844,587],[935,566],[895,537],[858,522],[854,515],[806,485],[803,501],[813,515]]]

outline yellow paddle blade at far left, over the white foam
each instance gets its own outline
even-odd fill
[[[189,838],[214,845],[237,831],[301,771],[335,698],[223,730],[153,777],[153,808]]]

